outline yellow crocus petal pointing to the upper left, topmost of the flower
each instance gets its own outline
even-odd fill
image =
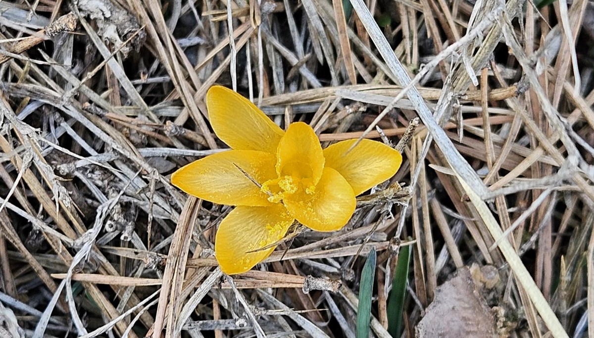
[[[221,86],[206,93],[214,133],[232,149],[276,153],[285,132],[245,97]]]

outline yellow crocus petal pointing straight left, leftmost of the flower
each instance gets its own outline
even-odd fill
[[[223,151],[180,168],[171,176],[171,183],[190,195],[218,204],[269,206],[268,195],[237,167],[261,184],[276,178],[274,162],[273,154],[264,151]]]

